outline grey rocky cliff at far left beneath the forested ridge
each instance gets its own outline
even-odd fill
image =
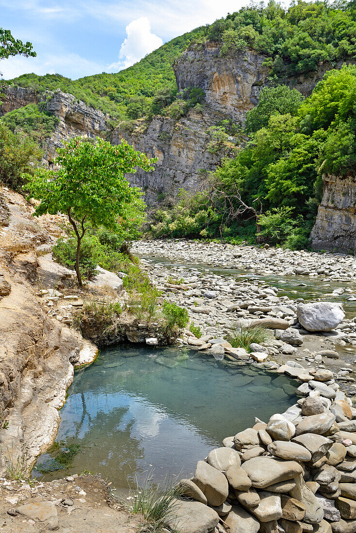
[[[42,162],[45,165],[52,164],[57,148],[62,146],[62,141],[72,139],[76,135],[92,138],[98,135],[106,136],[108,117],[101,111],[86,106],[72,94],[63,93],[59,89],[56,92],[37,93],[22,87],[14,87],[3,100],[0,116],[29,103],[44,102],[45,109],[59,118],[56,130],[42,143],[44,151]]]

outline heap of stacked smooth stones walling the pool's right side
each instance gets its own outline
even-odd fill
[[[332,376],[315,371],[285,413],[197,463],[180,482],[181,533],[356,533],[356,409]]]

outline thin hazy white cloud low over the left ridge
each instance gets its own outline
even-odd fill
[[[78,54],[41,54],[41,57],[37,55],[36,58],[15,56],[0,62],[0,72],[4,79],[15,78],[24,72],[34,72],[39,76],[58,73],[75,79],[88,75],[88,72],[98,74],[104,69],[103,65],[82,58]]]

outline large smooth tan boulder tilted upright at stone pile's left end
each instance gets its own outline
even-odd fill
[[[204,461],[198,461],[193,482],[203,492],[209,505],[218,507],[228,495],[228,482],[225,475]]]

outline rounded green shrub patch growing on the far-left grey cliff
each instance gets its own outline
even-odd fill
[[[21,131],[36,141],[49,137],[59,123],[58,117],[40,110],[39,105],[34,103],[10,111],[2,120],[12,132]]]

